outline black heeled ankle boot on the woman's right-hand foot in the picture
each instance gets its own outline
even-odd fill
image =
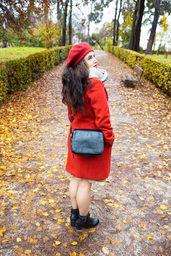
[[[79,215],[78,220],[76,220],[75,222],[75,228],[76,229],[81,229],[82,227],[95,227],[96,225],[98,225],[99,223],[99,219],[96,218],[91,218],[90,217],[90,213],[88,213],[88,215],[86,216],[81,216]]]

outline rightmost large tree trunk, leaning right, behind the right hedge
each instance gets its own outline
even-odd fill
[[[160,2],[161,0],[156,0],[154,7],[155,7],[155,11],[154,11],[154,19],[153,19],[153,24],[151,27],[151,32],[150,32],[150,36],[149,36],[149,40],[147,43],[147,50],[146,50],[146,54],[152,54],[152,47],[153,47],[153,43],[155,40],[155,35],[156,35],[156,27],[157,27],[157,23],[158,23],[158,18],[160,15]]]

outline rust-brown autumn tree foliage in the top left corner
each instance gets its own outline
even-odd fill
[[[40,13],[48,13],[51,0],[1,0],[0,36],[6,40],[9,31],[23,38],[25,31],[33,32],[35,19]]]

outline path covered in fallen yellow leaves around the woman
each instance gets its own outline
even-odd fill
[[[70,227],[64,61],[0,105],[1,256],[171,255],[171,100],[144,78],[125,86],[123,63],[95,56],[116,135],[110,177],[92,187],[100,223]]]

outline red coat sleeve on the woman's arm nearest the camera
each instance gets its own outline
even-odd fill
[[[87,96],[90,101],[90,106],[94,111],[95,123],[97,128],[103,132],[105,142],[112,146],[114,133],[110,122],[107,92],[99,79],[92,78],[91,81],[92,87],[88,89]]]

